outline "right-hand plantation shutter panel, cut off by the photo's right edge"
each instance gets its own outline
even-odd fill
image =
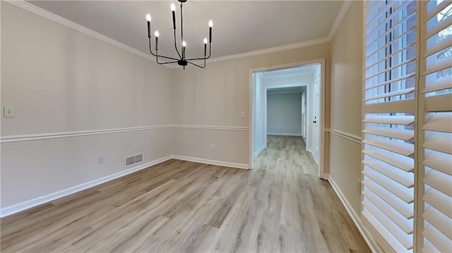
[[[452,1],[422,4],[422,252],[452,252]]]

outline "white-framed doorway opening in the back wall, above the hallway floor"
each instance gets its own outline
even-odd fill
[[[254,157],[267,148],[267,135],[301,136],[306,151],[311,152],[319,165],[319,177],[326,178],[323,173],[324,73],[324,59],[250,70],[250,168],[254,168]],[[268,116],[268,110],[274,111],[274,106],[290,104],[290,97],[298,97],[299,108],[295,111],[299,116],[291,112],[289,123],[278,121],[287,113]],[[293,123],[293,118],[299,119],[298,123]]]

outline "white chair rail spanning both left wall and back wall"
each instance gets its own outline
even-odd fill
[[[35,140],[49,140],[67,137],[79,137],[86,135],[105,135],[117,132],[133,132],[151,129],[163,129],[163,128],[192,128],[192,129],[208,129],[208,130],[236,130],[247,131],[248,127],[232,127],[232,126],[211,126],[211,125],[148,125],[135,128],[114,128],[114,129],[102,129],[102,130],[86,130],[76,132],[49,132],[44,134],[34,135],[8,135],[0,138],[0,143],[9,142],[28,142]]]

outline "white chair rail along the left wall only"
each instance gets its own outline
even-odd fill
[[[49,133],[35,134],[35,135],[9,135],[9,136],[1,137],[0,143],[27,142],[27,141],[34,141],[34,140],[49,140],[49,139],[78,137],[78,136],[86,136],[86,135],[105,135],[105,134],[117,133],[117,132],[133,132],[133,131],[162,129],[162,128],[171,128],[171,127],[172,127],[172,125],[148,125],[148,126],[135,127],[135,128],[114,128],[114,129],[87,130],[87,131],[76,131],[76,132],[49,132]]]

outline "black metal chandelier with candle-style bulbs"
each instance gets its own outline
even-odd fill
[[[170,63],[177,63],[179,66],[183,66],[184,70],[185,70],[185,66],[187,66],[188,64],[191,64],[193,66],[199,67],[199,68],[206,68],[206,59],[210,58],[210,51],[211,51],[211,47],[212,47],[212,26],[213,26],[213,22],[212,20],[209,21],[208,25],[209,25],[209,40],[207,40],[207,37],[204,38],[204,57],[201,58],[186,58],[185,57],[185,48],[186,48],[186,42],[184,41],[184,21],[182,18],[182,8],[183,8],[183,4],[187,1],[187,0],[177,0],[181,3],[181,42],[179,44],[180,47],[180,51],[177,47],[177,38],[176,38],[176,6],[174,4],[171,4],[171,11],[172,11],[172,27],[174,30],[174,49],[176,49],[177,55],[179,56],[179,58],[173,58],[173,57],[169,57],[169,56],[162,56],[158,54],[158,37],[159,37],[159,32],[158,30],[156,30],[154,32],[155,35],[155,54],[153,52],[152,46],[151,46],[151,36],[150,36],[150,13],[148,13],[148,15],[146,15],[146,20],[148,20],[148,39],[149,39],[149,51],[150,54],[152,54],[153,56],[155,56],[155,59],[157,61],[158,64],[163,65],[163,64],[170,64]],[[209,42],[209,55],[207,56],[207,42]],[[164,58],[165,60],[163,60],[164,62],[160,62],[159,58]],[[196,63],[193,63],[192,61],[204,61],[204,64],[198,65]]]

